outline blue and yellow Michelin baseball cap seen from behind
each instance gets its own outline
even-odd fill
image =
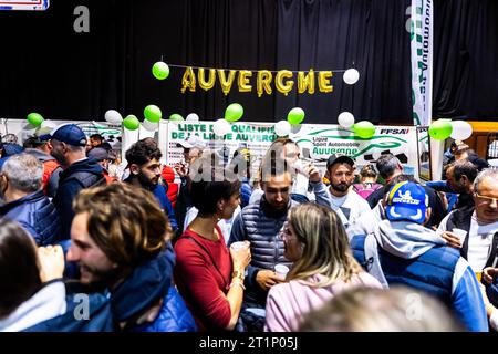
[[[387,219],[423,223],[427,205],[428,196],[421,185],[407,180],[398,183],[391,187],[387,195]]]

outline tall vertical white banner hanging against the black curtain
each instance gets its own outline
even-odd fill
[[[412,0],[413,121],[427,126],[433,113],[433,0]]]

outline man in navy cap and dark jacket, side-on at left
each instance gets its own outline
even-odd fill
[[[61,217],[61,239],[65,240],[71,237],[74,198],[84,188],[105,185],[105,178],[102,167],[86,157],[86,136],[77,125],[62,124],[52,131],[50,138],[50,154],[64,168],[53,204]]]

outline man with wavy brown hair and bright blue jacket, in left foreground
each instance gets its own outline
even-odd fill
[[[82,284],[104,285],[123,331],[189,332],[194,317],[173,283],[173,230],[154,197],[127,184],[76,197],[68,261]]]

